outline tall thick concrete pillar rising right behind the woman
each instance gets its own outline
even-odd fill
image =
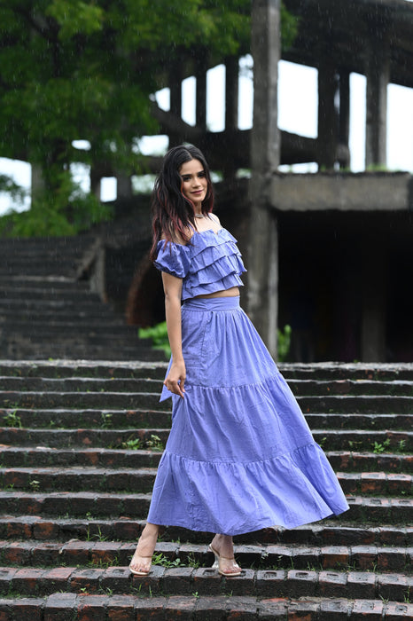
[[[277,357],[278,235],[270,209],[272,175],[280,163],[277,127],[280,0],[253,0],[253,130],[251,135],[251,225],[248,248],[248,312]]]

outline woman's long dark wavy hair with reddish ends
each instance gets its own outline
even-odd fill
[[[179,174],[186,161],[199,160],[207,178],[207,195],[202,201],[202,213],[211,213],[214,207],[214,190],[209,166],[204,155],[193,145],[174,146],[163,160],[162,169],[156,178],[152,192],[152,248],[151,260],[157,255],[161,238],[168,241],[180,239],[189,241],[190,224],[195,227],[194,205],[183,195],[183,180]]]

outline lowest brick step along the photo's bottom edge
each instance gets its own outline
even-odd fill
[[[116,577],[114,568],[114,576]],[[176,573],[176,572],[175,572]],[[65,576],[65,574],[62,574]],[[108,574],[110,576],[110,574]],[[24,574],[23,574],[24,577]],[[293,578],[293,574],[291,578]],[[51,577],[53,578],[53,577]],[[59,574],[55,575],[58,583]],[[236,578],[228,580],[228,586]],[[258,575],[258,579],[266,579]],[[268,578],[267,578],[268,579]],[[331,577],[331,579],[333,579]],[[105,580],[105,584],[112,584],[114,580]],[[324,577],[322,577],[323,586]],[[135,584],[132,583],[132,584]],[[226,585],[225,585],[226,586]],[[136,582],[136,591],[140,583]],[[106,593],[113,589],[105,586]],[[63,591],[61,589],[60,591]],[[226,589],[224,589],[226,590]],[[230,590],[230,589],[228,589]],[[382,589],[383,590],[383,589]],[[143,599],[131,594],[86,594],[77,593],[51,593],[47,597],[21,597],[19,599],[0,599],[0,614],[2,618],[23,618],[30,621],[67,621],[67,619],[90,619],[104,621],[105,619],[122,619],[122,621],[144,621],[156,619],[157,621],[171,621],[171,619],[199,619],[232,621],[234,619],[248,619],[248,621],[273,621],[285,620],[287,617],[292,621],[306,619],[306,621],[339,621],[347,618],[370,618],[387,619],[388,621],[406,621],[413,618],[413,604],[401,601],[383,601],[342,598],[293,598],[290,594],[288,599],[278,597],[274,599],[276,589],[269,583],[269,593],[262,597],[251,595],[199,595],[198,592],[188,595],[165,595],[155,594],[150,598]],[[128,590],[129,593],[129,590]],[[152,593],[151,593],[152,594]],[[269,598],[269,595],[271,597]],[[6,617],[4,616],[6,615]]]

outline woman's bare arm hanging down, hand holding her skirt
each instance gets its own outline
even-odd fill
[[[175,395],[183,397],[183,384],[186,378],[185,363],[182,353],[181,331],[181,295],[182,279],[162,271],[165,291],[165,314],[167,317],[168,339],[172,351],[172,365],[164,381],[165,386]]]

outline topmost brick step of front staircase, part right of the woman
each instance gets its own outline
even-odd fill
[[[317,362],[310,364],[280,363],[278,365],[285,377],[297,380],[372,380],[372,381],[413,381],[413,363],[334,363]]]

